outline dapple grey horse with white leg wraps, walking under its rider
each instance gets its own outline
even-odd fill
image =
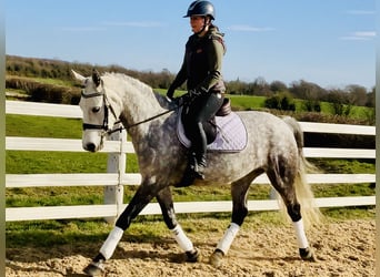
[[[96,276],[104,270],[103,263],[111,258],[123,232],[153,197],[162,209],[166,225],[187,254],[187,259],[197,261],[198,249],[176,219],[170,188],[181,181],[188,161],[187,148],[176,133],[176,104],[169,103],[147,84],[124,74],[100,75],[97,71],[88,78],[74,71],[73,74],[83,84],[79,103],[83,112],[83,148],[90,152],[101,150],[104,136],[116,122],[121,121],[130,134],[142,177],[134,196],[84,273]],[[302,154],[303,134],[299,124],[291,117],[281,120],[266,112],[238,114],[247,129],[247,146],[238,153],[209,152],[206,179],[197,179],[193,184],[231,185],[231,224],[211,255],[210,263],[218,267],[227,255],[248,214],[248,188],[263,173],[281,196],[293,223],[301,258],[314,260],[304,222],[318,219],[319,213],[318,208],[310,205],[313,196],[304,182],[309,163]]]

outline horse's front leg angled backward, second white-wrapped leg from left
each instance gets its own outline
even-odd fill
[[[160,204],[164,223],[176,238],[176,242],[187,255],[187,261],[198,261],[198,249],[193,247],[191,240],[187,237],[181,225],[179,225],[176,219],[173,199],[169,186],[162,188],[158,193],[157,201]]]

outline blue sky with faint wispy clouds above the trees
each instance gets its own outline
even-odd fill
[[[179,70],[182,0],[9,0],[6,53],[133,70]],[[376,84],[376,0],[214,0],[223,75],[323,88]]]

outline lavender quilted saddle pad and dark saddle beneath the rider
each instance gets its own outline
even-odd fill
[[[214,152],[240,152],[247,145],[247,130],[240,116],[232,112],[230,100],[224,98],[216,116],[203,123],[207,135],[207,150]],[[182,107],[177,119],[177,136],[183,146],[189,148],[191,141],[186,134]]]

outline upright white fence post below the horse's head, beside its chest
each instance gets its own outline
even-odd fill
[[[114,127],[120,127],[120,123]],[[107,162],[107,172],[108,173],[118,173],[118,185],[116,186],[104,186],[104,204],[116,204],[117,205],[117,216],[104,217],[104,220],[108,224],[114,225],[119,215],[121,214],[122,204],[123,204],[123,195],[124,187],[121,183],[122,175],[126,173],[126,164],[127,164],[127,154],[122,153],[122,145],[127,142],[127,132],[122,130],[121,132],[112,133],[109,141],[119,141],[120,142],[120,152],[119,153],[110,153],[108,155]]]

